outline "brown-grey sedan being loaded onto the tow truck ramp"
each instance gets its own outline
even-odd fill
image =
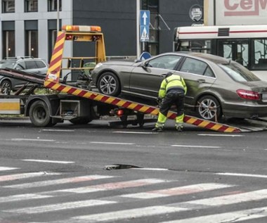
[[[171,52],[136,63],[98,63],[91,77],[103,94],[157,98],[167,72],[185,79],[185,113],[205,120],[267,117],[267,82],[239,63],[207,53]]]

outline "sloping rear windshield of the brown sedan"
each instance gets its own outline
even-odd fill
[[[230,77],[237,82],[254,82],[259,81],[251,71],[238,63],[218,64]]]

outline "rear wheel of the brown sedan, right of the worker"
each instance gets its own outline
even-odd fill
[[[222,117],[221,104],[214,96],[203,96],[197,101],[197,116],[209,121],[219,121]]]

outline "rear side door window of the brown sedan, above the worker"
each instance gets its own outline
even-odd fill
[[[204,63],[200,60],[195,60],[192,58],[186,58],[183,66],[181,68],[181,72],[190,72],[196,75],[204,75],[204,72],[207,70],[207,63]],[[208,72],[210,72],[209,70]],[[207,73],[207,76],[210,75]]]

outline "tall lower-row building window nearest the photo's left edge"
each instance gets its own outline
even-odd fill
[[[15,56],[15,31],[3,31],[3,58]]]

